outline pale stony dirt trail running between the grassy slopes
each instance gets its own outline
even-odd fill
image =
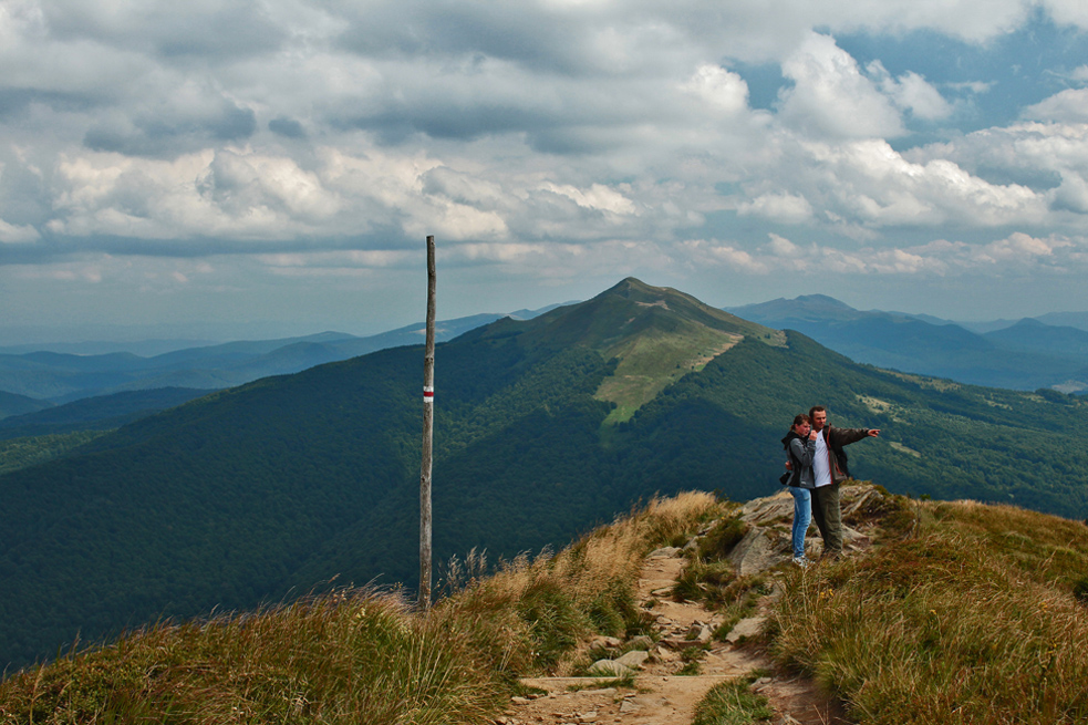
[[[757,680],[753,690],[769,700],[776,713],[770,721],[774,725],[847,723],[836,704],[829,703],[810,681],[775,674],[774,663],[755,646],[711,641],[709,651],[700,660],[698,674],[677,674],[685,665],[681,654],[685,638],[701,633],[702,639],[708,639],[709,632],[721,624],[721,615],[700,603],[669,599],[665,590],[675,583],[683,566],[678,552],[663,551],[651,555],[643,567],[639,598],[640,602],[653,603],[650,611],[656,615],[661,641],[650,649],[650,659],[638,671],[633,688],[594,688],[593,683],[604,677],[526,679],[525,685],[548,694],[515,697],[506,715],[497,722],[501,725],[688,725],[695,705],[712,686],[763,670],[769,674]],[[763,598],[761,613],[742,620],[730,636],[758,632],[775,599],[775,593]]]

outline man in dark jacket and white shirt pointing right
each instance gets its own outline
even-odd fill
[[[812,489],[812,518],[823,537],[823,556],[838,559],[842,556],[842,509],[839,505],[839,485],[850,477],[847,469],[847,455],[842,446],[874,438],[879,428],[833,428],[827,424],[827,408],[816,405],[808,412],[816,436],[816,454],[812,456],[812,473],[816,488]]]

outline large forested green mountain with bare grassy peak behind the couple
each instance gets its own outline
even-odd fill
[[[422,346],[213,393],[0,476],[0,662],[163,615],[417,576]],[[1086,405],[859,365],[626,279],[436,350],[435,560],[560,545],[640,499],[777,489],[816,402],[853,473],[1088,515]]]

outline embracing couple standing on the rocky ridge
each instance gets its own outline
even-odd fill
[[[789,454],[781,483],[794,496],[794,563],[806,567],[805,534],[809,521],[823,538],[823,557],[842,556],[842,510],[839,485],[850,477],[842,446],[880,435],[879,428],[835,428],[827,424],[827,408],[816,405],[794,418],[783,438]]]

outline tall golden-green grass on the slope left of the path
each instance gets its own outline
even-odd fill
[[[469,578],[425,615],[342,590],[159,623],[7,677],[0,723],[487,723],[518,675],[636,622],[644,555],[721,509],[705,494],[654,499],[556,556]]]

